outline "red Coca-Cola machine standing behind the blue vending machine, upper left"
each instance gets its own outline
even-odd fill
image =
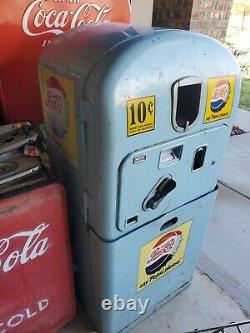
[[[0,110],[5,122],[42,120],[37,60],[50,41],[83,24],[130,21],[129,0],[0,0]]]

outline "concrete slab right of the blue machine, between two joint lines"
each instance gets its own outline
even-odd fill
[[[198,267],[250,314],[250,202],[220,186]],[[249,328],[250,332],[250,328]]]

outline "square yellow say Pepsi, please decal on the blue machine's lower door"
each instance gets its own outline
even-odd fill
[[[182,264],[192,221],[153,239],[141,248],[137,290]]]

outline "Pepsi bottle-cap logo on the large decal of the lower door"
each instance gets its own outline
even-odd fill
[[[182,239],[181,231],[170,232],[154,246],[145,267],[147,274],[153,274],[166,265],[176,253]]]

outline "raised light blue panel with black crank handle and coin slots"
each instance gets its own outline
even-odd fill
[[[118,229],[141,226],[211,191],[229,132],[221,125],[126,156],[119,168]]]

